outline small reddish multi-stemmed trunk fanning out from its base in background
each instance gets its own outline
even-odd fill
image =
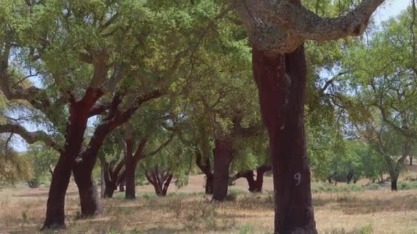
[[[147,181],[154,185],[156,196],[166,196],[169,183],[171,183],[173,175],[169,172],[163,172],[155,166],[153,170],[146,173]]]

